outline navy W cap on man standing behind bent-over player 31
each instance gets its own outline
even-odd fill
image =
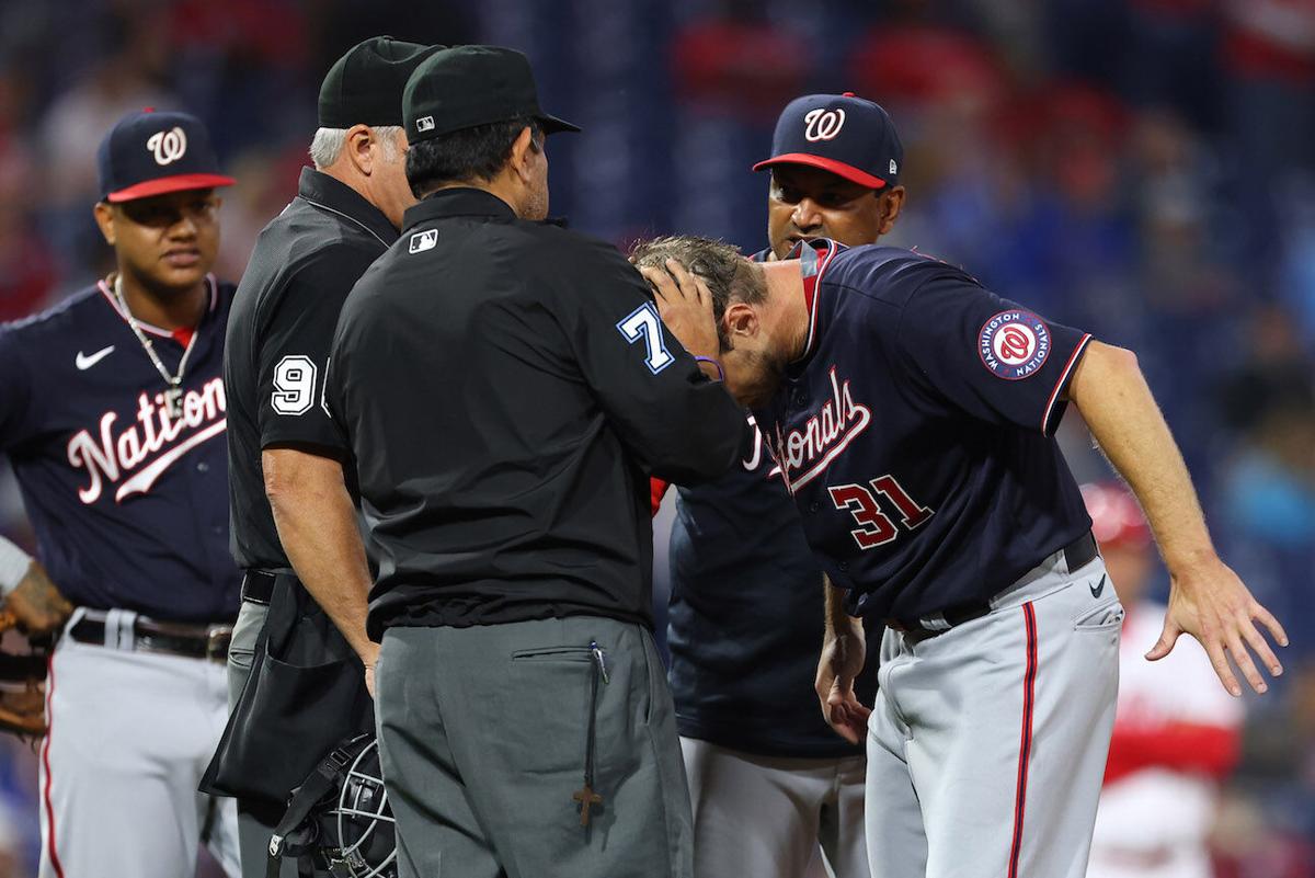
[[[772,135],[772,158],[753,170],[776,164],[806,164],[881,189],[899,184],[903,145],[896,124],[878,104],[855,97],[853,92],[805,95],[781,110]]]

